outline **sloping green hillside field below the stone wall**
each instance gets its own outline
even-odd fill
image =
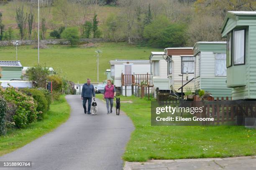
[[[106,69],[110,69],[110,60],[115,59],[148,59],[151,51],[164,49],[152,47],[138,47],[123,43],[98,43],[95,47],[84,48],[84,45],[51,45],[40,50],[40,63],[55,70],[75,83],[84,83],[87,77],[93,82],[97,81],[97,57],[95,50],[102,50],[100,56],[100,81],[106,79]],[[0,47],[0,60],[16,60],[15,47]],[[33,46],[18,47],[18,60],[22,66],[35,66],[37,64],[37,49]]]

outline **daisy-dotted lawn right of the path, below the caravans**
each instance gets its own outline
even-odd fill
[[[256,155],[256,130],[243,126],[151,126],[150,101],[124,96],[120,99],[133,101],[121,103],[121,110],[136,127],[123,160]]]

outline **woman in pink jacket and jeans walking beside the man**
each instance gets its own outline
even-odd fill
[[[107,114],[112,113],[114,97],[115,97],[115,86],[111,84],[111,80],[108,80],[107,85],[105,85],[104,91],[103,91],[103,99],[105,98],[107,103],[107,110],[108,110]],[[110,103],[110,110],[109,110],[109,103]]]

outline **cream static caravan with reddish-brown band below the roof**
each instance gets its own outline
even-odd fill
[[[182,84],[184,86],[183,92],[186,92],[186,87],[195,92],[195,57],[193,47],[166,48],[164,53],[166,54],[168,64],[167,76],[172,92],[181,93]]]

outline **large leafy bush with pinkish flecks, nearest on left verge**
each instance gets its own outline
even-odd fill
[[[13,87],[6,88],[2,93],[7,102],[14,103],[17,106],[13,116],[17,128],[25,128],[29,123],[36,121],[37,103],[34,102],[33,97],[15,90]]]

